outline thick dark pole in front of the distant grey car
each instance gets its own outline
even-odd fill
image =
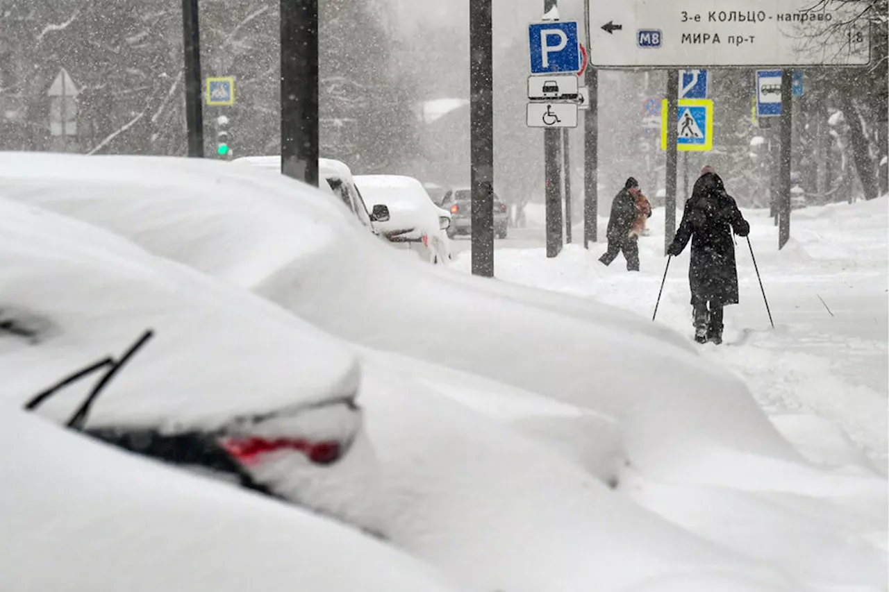
[[[472,273],[494,275],[494,134],[492,0],[469,3],[469,156]]]

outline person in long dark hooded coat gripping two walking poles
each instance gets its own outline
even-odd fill
[[[676,256],[692,241],[688,283],[692,290],[694,340],[699,343],[722,343],[723,307],[738,303],[732,231],[748,236],[750,225],[734,198],[725,192],[719,175],[704,172],[694,183],[682,222],[667,249],[668,255]]]

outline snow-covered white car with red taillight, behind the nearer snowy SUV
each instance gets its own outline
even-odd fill
[[[432,203],[419,180],[399,175],[356,175],[355,183],[374,207],[388,207],[389,220],[380,228],[390,241],[418,247],[421,244],[425,251],[422,259],[431,263],[451,259],[447,233],[451,216]]]

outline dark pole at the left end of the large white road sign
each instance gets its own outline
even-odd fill
[[[583,24],[589,48],[589,0],[583,3]],[[589,109],[583,114],[583,248],[598,240],[598,140],[599,73],[587,65],[584,72],[589,90]]]

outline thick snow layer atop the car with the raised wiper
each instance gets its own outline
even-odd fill
[[[0,395],[15,403],[147,329],[154,337],[92,422],[212,427],[356,393],[356,358],[299,318],[106,230],[2,198],[0,282],[4,320],[36,332],[35,343],[7,336],[0,356]]]

